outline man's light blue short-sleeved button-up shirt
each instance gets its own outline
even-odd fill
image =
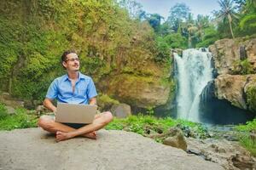
[[[90,77],[79,72],[79,78],[75,83],[74,92],[71,80],[67,74],[55,78],[49,85],[46,98],[57,99],[61,103],[88,104],[90,99],[96,97],[96,88]]]

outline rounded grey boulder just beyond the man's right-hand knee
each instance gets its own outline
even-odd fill
[[[131,115],[131,106],[127,104],[116,104],[111,107],[110,110],[113,116],[118,118],[125,118]]]

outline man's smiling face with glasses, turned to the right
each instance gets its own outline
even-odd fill
[[[67,54],[66,61],[62,62],[67,71],[79,71],[79,64],[79,56],[74,53]]]

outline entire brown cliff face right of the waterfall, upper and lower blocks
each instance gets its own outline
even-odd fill
[[[218,77],[215,96],[244,110],[255,111],[256,38],[222,39],[209,47]]]

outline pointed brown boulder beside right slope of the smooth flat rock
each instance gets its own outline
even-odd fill
[[[164,139],[163,144],[170,145],[172,147],[186,151],[187,143],[183,136],[182,130],[177,127],[171,127],[169,131],[172,133],[172,136]]]

